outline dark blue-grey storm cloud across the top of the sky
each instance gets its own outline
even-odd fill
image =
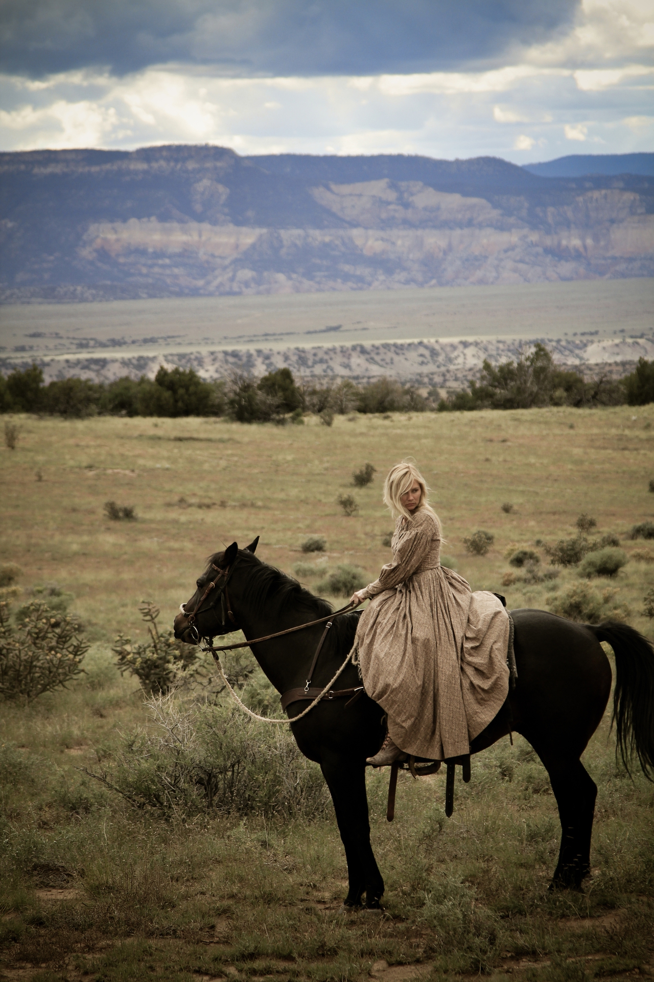
[[[39,79],[153,65],[227,77],[366,76],[506,64],[579,0],[6,0],[2,70]]]

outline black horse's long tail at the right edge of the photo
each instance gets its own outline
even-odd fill
[[[654,646],[619,621],[588,627],[616,656],[611,720],[611,726],[616,725],[616,756],[622,757],[628,774],[637,757],[645,777],[654,781]]]

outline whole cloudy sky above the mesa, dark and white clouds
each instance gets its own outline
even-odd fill
[[[654,150],[654,0],[3,0],[0,149]]]

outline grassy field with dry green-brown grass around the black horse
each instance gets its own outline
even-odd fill
[[[446,562],[474,589],[505,593],[509,607],[551,607],[578,573],[503,586],[507,553],[535,548],[547,568],[536,540],[573,536],[588,513],[596,534],[617,534],[630,557],[615,580],[591,584],[598,602],[653,637],[642,609],[654,543],[627,535],[654,518],[654,406],[338,416],[330,428],[316,419],[15,420],[18,446],[0,450],[0,563],[21,568],[24,595],[48,583],[71,594],[92,647],[87,674],[69,690],[0,704],[0,978],[654,974],[654,793],[641,776],[631,783],[617,771],[608,718],[584,755],[599,794],[583,895],[547,893],[555,801],[528,744],[507,739],[474,760],[469,786],[457,782],[449,820],[440,776],[401,777],[392,825],[387,772],[370,776],[382,916],[338,911],[345,863],[328,807],[312,821],[275,809],[162,817],[81,770],[111,764],[136,731],[153,738],[143,694],[111,652],[119,630],[144,637],[141,600],[172,623],[205,557],[257,534],[258,555],[287,572],[314,562],[299,546],[318,534],[329,568],[348,563],[373,578],[389,557],[381,539],[392,524],[381,478],[407,455],[433,489]],[[374,483],[353,488],[353,470],[367,462]],[[354,494],[358,515],[342,514],[342,493]],[[109,500],[133,506],[137,520],[110,521]],[[494,535],[493,547],[469,556],[463,538],[479,528]],[[247,724],[248,738],[261,741],[263,756],[273,737],[257,727]],[[288,738],[278,740],[287,754]]]

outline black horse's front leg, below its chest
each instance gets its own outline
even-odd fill
[[[345,847],[349,890],[343,903],[347,907],[359,906],[365,892],[366,906],[378,908],[383,880],[370,841],[365,765],[346,757],[324,756],[321,768]]]

